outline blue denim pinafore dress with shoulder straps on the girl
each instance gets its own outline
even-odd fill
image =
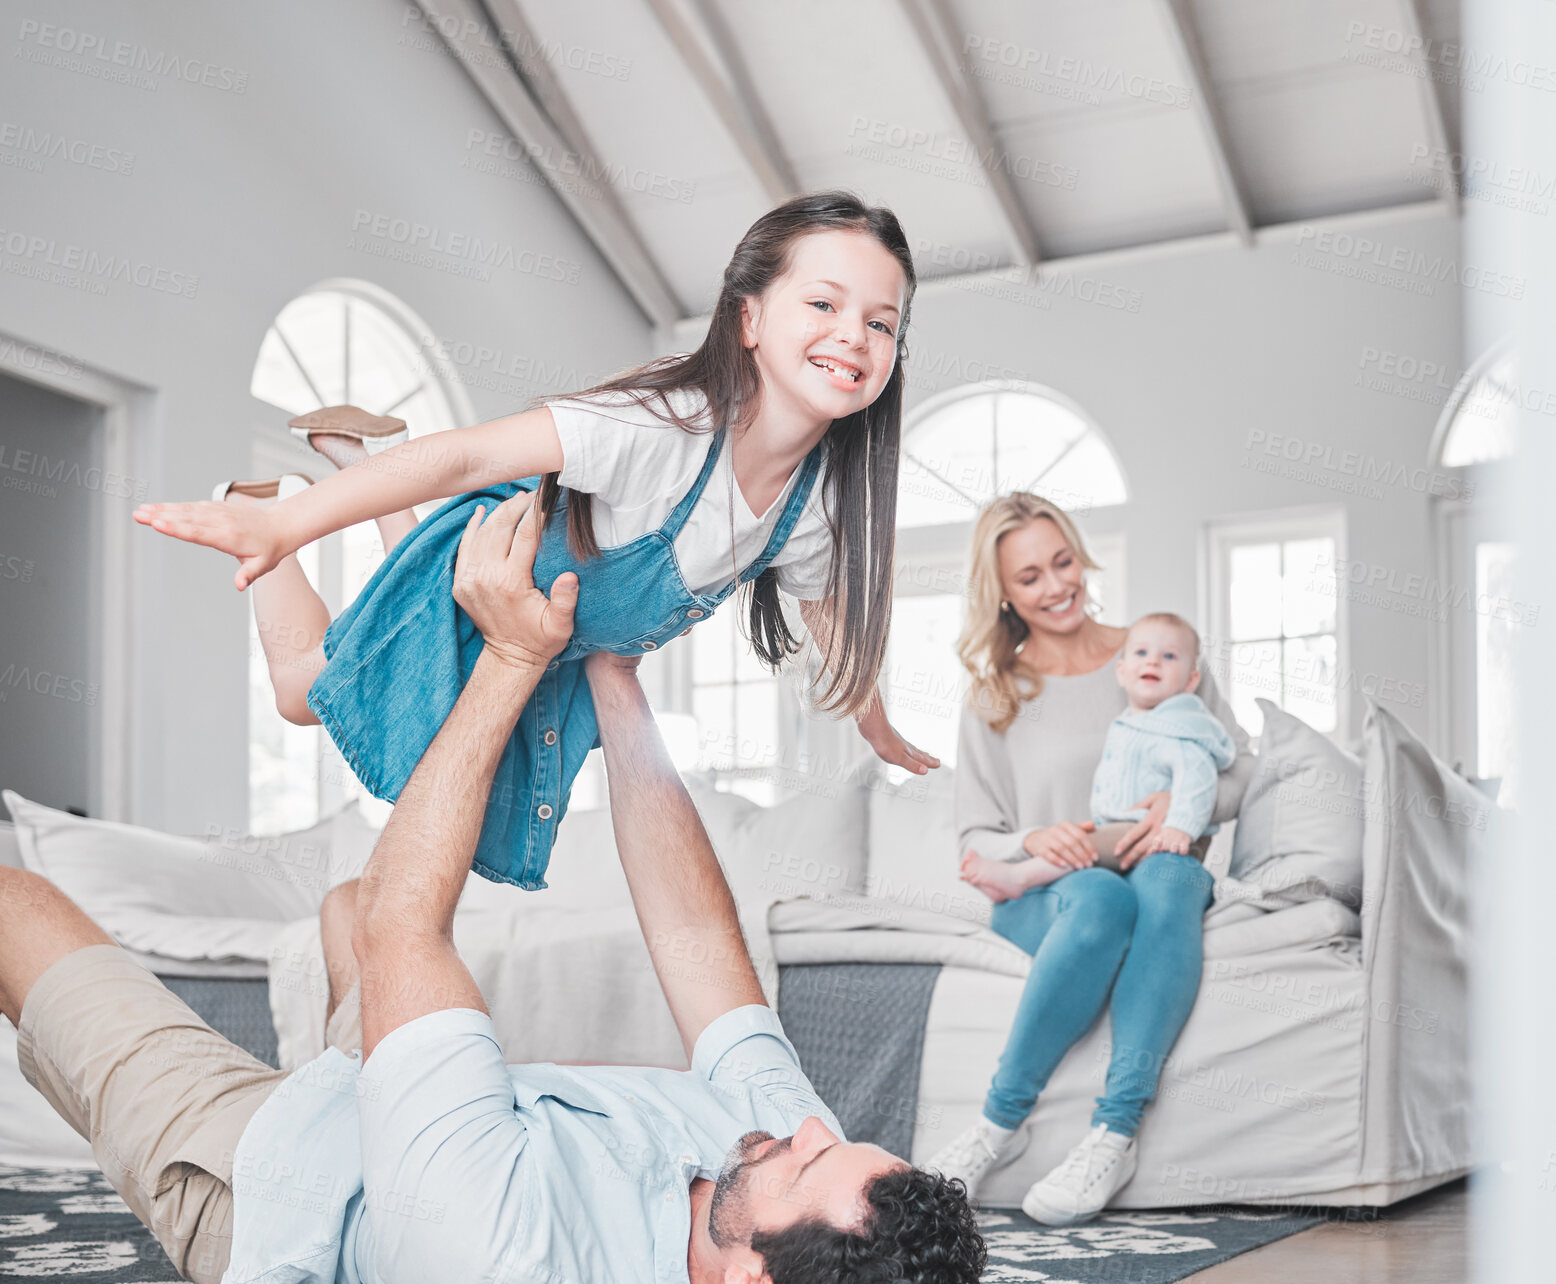
[[[657,651],[734,591],[736,582],[713,595],[692,593],[674,546],[727,436],[722,428],[714,433],[697,481],[658,531],[601,549],[599,557],[580,562],[568,549],[568,492],[560,492],[535,553],[535,584],[549,593],[559,574],[577,574],[573,638],[541,674],[503,749],[476,845],[476,873],[531,892],[546,886],[551,844],[573,781],[599,744],[584,657]],[[817,444],[804,458],[772,539],[739,584],[759,576],[783,549],[815,484],[820,451]],[[538,484],[540,478],[521,478],[450,500],[395,545],[324,635],[327,663],[308,688],[308,708],[373,797],[400,797],[485,646],[453,596],[465,524],[478,504],[490,512]]]

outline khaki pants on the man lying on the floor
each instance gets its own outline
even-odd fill
[[[359,990],[342,999],[325,1038],[361,1047]],[[219,1284],[232,1251],[233,1152],[288,1072],[218,1035],[117,945],[76,949],[37,979],[17,1060],[92,1144],[179,1275]]]

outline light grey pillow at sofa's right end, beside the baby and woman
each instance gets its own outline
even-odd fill
[[[1237,811],[1228,873],[1285,900],[1362,907],[1362,760],[1301,717],[1259,700],[1263,733]]]

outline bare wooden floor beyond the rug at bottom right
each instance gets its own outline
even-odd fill
[[[1187,1276],[1193,1284],[1464,1284],[1467,1189],[1453,1181],[1376,1222],[1326,1222]]]

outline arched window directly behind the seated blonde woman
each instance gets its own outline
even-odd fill
[[[1099,618],[1125,623],[1123,537],[1085,531],[1128,486],[1097,423],[1072,400],[1032,383],[955,388],[913,411],[902,431],[896,492],[898,570],[884,686],[893,725],[955,763],[966,672],[955,640],[966,613],[972,523],[996,496],[1029,490],[1083,528],[1102,565],[1088,574]]]

